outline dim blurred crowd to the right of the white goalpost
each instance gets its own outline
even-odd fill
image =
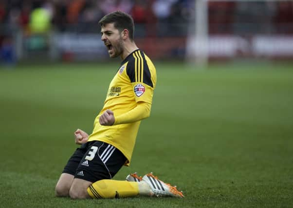
[[[210,34],[293,34],[293,1],[210,1]]]

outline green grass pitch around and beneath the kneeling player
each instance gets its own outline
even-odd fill
[[[293,207],[290,63],[157,63],[151,117],[115,179],[153,171],[186,197],[55,198],[73,131],[92,131],[117,65],[0,68],[0,207]]]

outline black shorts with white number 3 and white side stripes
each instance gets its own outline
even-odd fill
[[[114,146],[101,141],[90,141],[76,149],[62,173],[93,183],[112,179],[126,161],[124,154]]]

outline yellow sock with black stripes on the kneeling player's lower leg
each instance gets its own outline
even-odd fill
[[[139,189],[137,182],[105,179],[93,183],[88,193],[93,199],[125,198],[138,195]]]

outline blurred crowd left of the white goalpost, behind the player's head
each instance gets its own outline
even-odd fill
[[[97,22],[113,11],[130,14],[136,24],[184,23],[194,13],[194,0],[0,0],[0,23],[25,31],[36,22],[57,31],[93,32]],[[174,18],[176,17],[176,18]]]

